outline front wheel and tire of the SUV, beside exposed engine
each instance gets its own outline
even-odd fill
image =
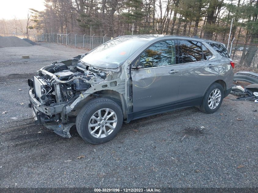
[[[122,123],[122,109],[117,103],[107,98],[90,100],[76,117],[76,129],[79,135],[91,144],[101,144],[112,140],[120,131]]]

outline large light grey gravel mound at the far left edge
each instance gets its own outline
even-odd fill
[[[0,37],[0,47],[23,47],[23,46],[32,46],[32,45],[16,36]]]

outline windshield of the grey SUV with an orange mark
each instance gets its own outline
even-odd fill
[[[147,41],[132,38],[118,38],[97,47],[81,60],[100,68],[117,68]]]

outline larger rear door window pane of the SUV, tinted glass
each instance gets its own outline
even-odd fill
[[[197,41],[180,40],[181,63],[202,61],[202,44]]]

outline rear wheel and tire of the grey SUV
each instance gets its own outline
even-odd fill
[[[216,95],[217,93],[219,94]],[[219,95],[220,97],[218,97]],[[212,85],[210,85],[210,87],[205,92],[205,95],[202,98],[202,103],[199,107],[200,111],[208,114],[216,112],[220,108],[223,98],[224,98],[223,87],[218,83],[213,83]],[[219,99],[219,102],[218,102],[218,99]],[[212,104],[212,101],[213,101],[213,104]]]

